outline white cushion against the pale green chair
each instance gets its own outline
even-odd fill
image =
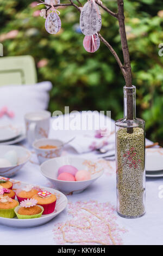
[[[7,106],[8,110],[15,114],[14,118],[3,115],[0,118],[0,124],[22,122],[27,112],[47,109],[51,88],[52,84],[48,81],[35,85],[0,87],[0,111]]]

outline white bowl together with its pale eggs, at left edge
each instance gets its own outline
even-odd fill
[[[24,147],[0,145],[0,175],[12,177],[30,159],[31,153]]]

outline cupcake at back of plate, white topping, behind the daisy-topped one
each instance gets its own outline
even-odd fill
[[[16,197],[17,200],[19,201],[19,203],[21,203],[21,201],[23,200],[27,200],[32,198],[35,194],[37,194],[39,192],[39,188],[33,187],[33,186],[26,186],[22,189],[18,188],[16,190]]]

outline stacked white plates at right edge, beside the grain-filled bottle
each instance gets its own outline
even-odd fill
[[[146,150],[146,177],[163,177],[163,148]]]

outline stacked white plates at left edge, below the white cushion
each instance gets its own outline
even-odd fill
[[[0,145],[11,145],[20,142],[26,138],[22,127],[11,124],[0,126]]]

